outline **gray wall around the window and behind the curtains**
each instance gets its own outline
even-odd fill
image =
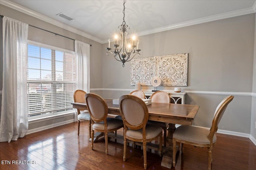
[[[75,34],[73,32],[67,31],[66,29],[62,29],[60,27],[57,27],[55,25],[52,25],[50,23],[47,23],[42,20],[38,20],[32,16],[28,16],[24,13],[18,12],[12,8],[8,8],[6,6],[0,5],[0,14],[3,16],[7,16],[10,18],[13,18],[15,20],[22,21],[24,23],[28,23],[30,25],[34,25],[36,27],[40,27],[43,29],[46,29],[48,31],[52,31],[54,33],[58,33],[60,35],[64,35],[66,37],[70,37],[72,39],[76,39],[78,41],[82,41],[84,43],[91,44],[92,47],[90,47],[90,86],[92,88],[101,88],[102,84],[102,70],[101,67],[98,65],[101,65],[102,62],[102,53],[98,49],[102,49],[102,44],[98,43],[96,41],[93,41],[91,39],[88,39],[86,37],[82,37],[81,35]],[[36,41],[39,43],[44,43],[47,45],[52,45],[55,47],[68,49],[71,51],[74,51],[74,41],[31,27],[28,27],[28,39],[31,41]],[[2,59],[2,58],[1,58]],[[1,66],[2,68],[2,66]],[[11,68],[10,68],[11,69]],[[0,71],[0,74],[2,74],[2,71]],[[0,77],[1,78],[1,77]],[[2,78],[1,78],[2,81]],[[1,90],[2,90],[2,83],[1,83]],[[1,96],[2,99],[2,96]],[[74,119],[73,116],[66,116],[66,117],[60,117],[53,120],[47,120],[47,121],[41,121],[36,123],[30,123],[28,126],[28,130],[37,129],[44,126],[50,126],[52,124],[58,124],[64,121],[69,121],[70,119]]]

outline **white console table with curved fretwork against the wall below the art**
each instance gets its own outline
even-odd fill
[[[143,90],[142,90],[143,91]],[[143,91],[145,93],[145,96],[147,99],[150,99],[150,96],[154,93],[154,92],[150,92],[150,91]],[[167,92],[170,96],[170,103],[174,103],[174,104],[185,104],[185,97],[186,97],[186,93],[185,92]]]

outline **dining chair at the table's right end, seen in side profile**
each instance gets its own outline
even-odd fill
[[[195,126],[179,126],[173,133],[173,160],[172,164],[176,164],[176,142],[181,143],[181,150],[183,152],[183,144],[194,145],[196,147],[207,147],[208,148],[208,170],[212,168],[212,147],[216,145],[217,137],[215,132],[218,130],[218,123],[222,118],[224,111],[228,104],[233,100],[234,96],[227,96],[224,98],[214,113],[212,120],[212,127],[210,130],[202,127]]]

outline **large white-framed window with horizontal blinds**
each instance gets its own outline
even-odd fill
[[[76,60],[73,51],[28,44],[29,119],[73,111]]]

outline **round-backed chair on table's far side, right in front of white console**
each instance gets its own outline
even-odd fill
[[[154,92],[150,96],[150,99],[151,99],[151,102],[154,102],[154,103],[170,103],[170,96],[167,92],[164,92],[164,91]],[[148,124],[162,127],[162,129],[164,130],[164,146],[166,147],[166,136],[167,136],[167,128],[169,126],[169,123],[148,120]]]

